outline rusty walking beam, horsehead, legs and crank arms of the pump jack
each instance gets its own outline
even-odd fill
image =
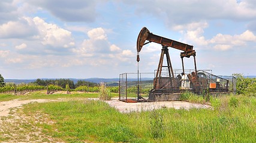
[[[147,41],[147,42],[146,42]],[[168,74],[169,74],[169,89],[177,89],[177,87],[174,86],[175,79],[174,79],[174,73],[173,73],[173,68],[171,66],[171,60],[170,60],[170,55],[168,52],[168,47],[174,48],[174,49],[179,49],[183,52],[180,52],[180,58],[182,59],[182,70],[183,73],[185,73],[184,69],[184,63],[183,63],[183,58],[189,58],[191,55],[194,57],[194,66],[195,66],[195,72],[192,74],[188,74],[189,80],[191,80],[192,85],[194,86],[195,89],[198,89],[199,87],[199,82],[197,79],[197,65],[195,61],[195,50],[193,50],[192,45],[188,45],[182,42],[177,42],[172,39],[164,38],[162,36],[154,35],[153,33],[150,33],[149,30],[146,27],[143,27],[140,30],[140,33],[138,34],[137,38],[137,62],[140,61],[140,51],[144,45],[150,42],[155,42],[159,43],[162,45],[162,51],[161,51],[161,57],[159,59],[159,64],[158,68],[156,70],[156,75],[155,79],[153,80],[153,89],[158,90],[158,89],[163,89],[164,86],[160,85],[161,82],[161,72],[162,72],[162,67],[167,67],[168,69]],[[163,61],[164,61],[164,55],[166,55],[166,60],[167,60],[167,66],[162,66]],[[170,90],[169,90],[170,91]],[[170,92],[175,92],[177,90],[172,90]]]

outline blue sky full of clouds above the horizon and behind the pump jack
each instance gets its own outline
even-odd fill
[[[193,45],[197,69],[256,75],[254,0],[1,0],[0,73],[5,79],[119,77],[137,72],[142,27]],[[140,52],[153,72],[161,45]],[[174,69],[181,51],[169,48]],[[185,68],[194,68],[192,58]]]

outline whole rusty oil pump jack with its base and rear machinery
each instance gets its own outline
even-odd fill
[[[140,52],[144,45],[150,42],[162,45],[159,64],[153,79],[153,89],[149,92],[149,101],[170,101],[177,100],[180,93],[190,91],[196,94],[202,92],[228,92],[229,80],[215,76],[207,71],[197,70],[195,60],[196,52],[192,45],[164,38],[150,33],[146,27],[140,30],[137,38],[137,62],[140,61]],[[182,63],[182,71],[177,73],[171,65],[168,48],[179,49]],[[164,56],[167,65],[163,65]],[[183,58],[194,58],[194,70],[189,73],[184,69]],[[166,72],[163,70],[166,70]],[[165,73],[165,76],[163,76]],[[167,73],[167,74],[166,74]],[[138,98],[140,95],[138,93]]]

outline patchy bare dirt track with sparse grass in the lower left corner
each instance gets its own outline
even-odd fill
[[[12,100],[0,102],[0,141],[6,142],[62,142],[52,138],[42,129],[34,126],[38,123],[53,122],[46,121],[47,115],[38,113],[35,116],[25,116],[22,113],[23,104],[31,102],[49,102],[61,100]],[[17,112],[19,110],[19,112]],[[33,120],[32,120],[33,119]],[[35,122],[35,123],[34,123]]]

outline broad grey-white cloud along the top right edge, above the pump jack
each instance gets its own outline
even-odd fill
[[[201,20],[255,20],[255,1],[243,0],[159,0],[159,1],[123,1],[125,4],[135,5],[135,13],[147,14],[165,20],[170,29],[180,29],[183,25]],[[171,5],[171,8],[170,8]]]

